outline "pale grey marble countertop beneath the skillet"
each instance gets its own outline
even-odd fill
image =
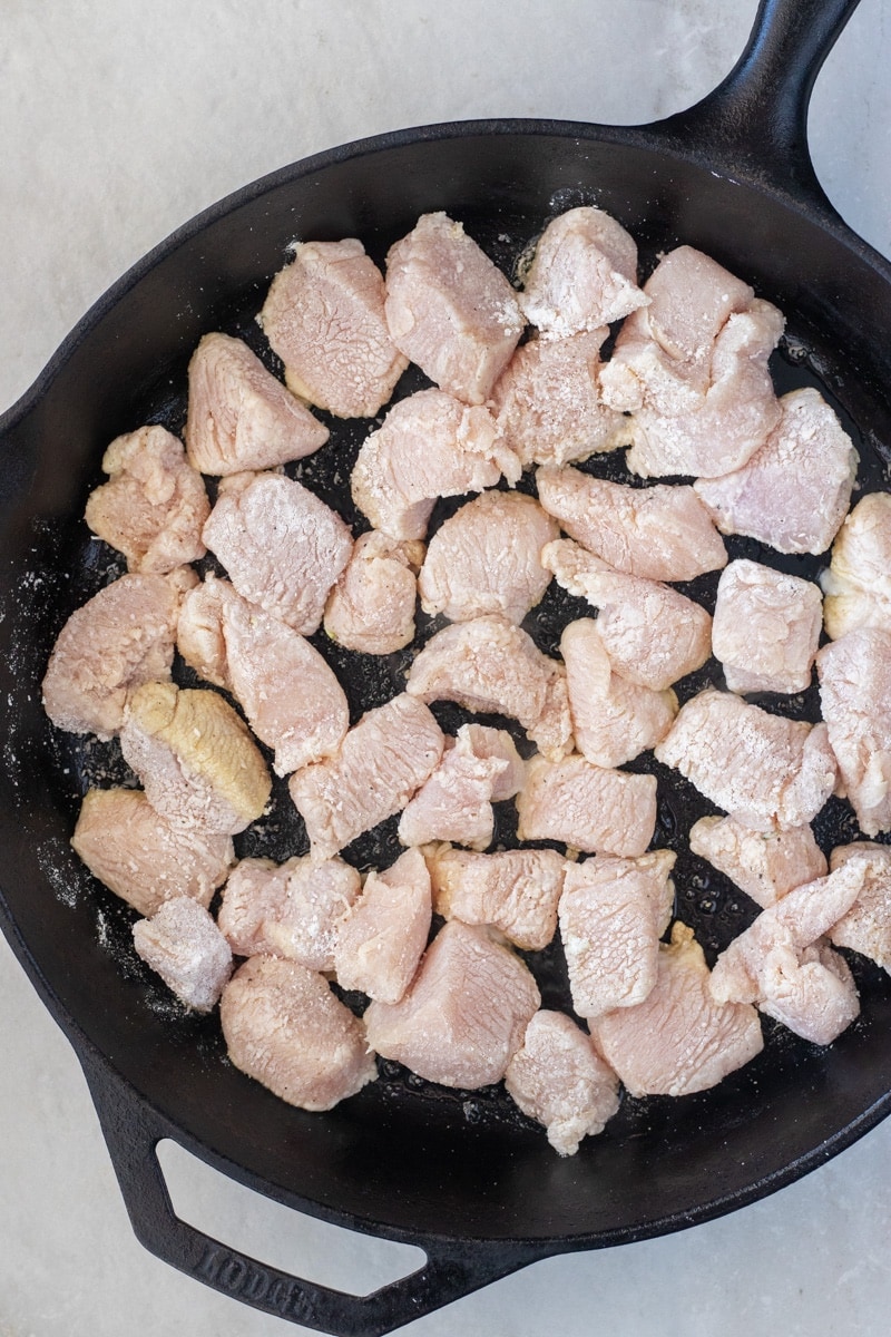
[[[306,154],[478,116],[647,122],[741,49],[755,0],[98,0],[0,15],[0,406],[182,222]],[[863,0],[818,80],[811,146],[891,257],[891,7]],[[286,1211],[172,1148],[175,1205],[270,1262],[367,1292],[391,1245]],[[136,1243],[65,1039],[0,939],[0,1337],[289,1330]],[[773,1197],[676,1235],[537,1263],[403,1329],[493,1337],[887,1332],[891,1126]]]

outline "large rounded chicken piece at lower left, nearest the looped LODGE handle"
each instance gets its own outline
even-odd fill
[[[331,1110],[377,1078],[365,1027],[323,975],[252,956],[219,1004],[228,1056],[242,1072],[302,1110]]]

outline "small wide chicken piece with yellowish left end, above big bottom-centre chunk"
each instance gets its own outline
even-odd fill
[[[474,854],[437,845],[425,850],[434,908],[445,919],[492,924],[529,952],[557,932],[557,901],[566,861],[553,849],[504,849]]]

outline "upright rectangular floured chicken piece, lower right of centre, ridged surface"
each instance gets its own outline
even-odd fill
[[[584,1017],[643,1003],[656,984],[659,940],[675,905],[676,854],[597,856],[566,864],[560,936],[572,1005]]]

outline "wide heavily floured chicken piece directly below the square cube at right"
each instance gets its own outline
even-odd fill
[[[655,753],[752,830],[804,826],[835,789],[824,723],[772,715],[713,687],[681,706]]]

